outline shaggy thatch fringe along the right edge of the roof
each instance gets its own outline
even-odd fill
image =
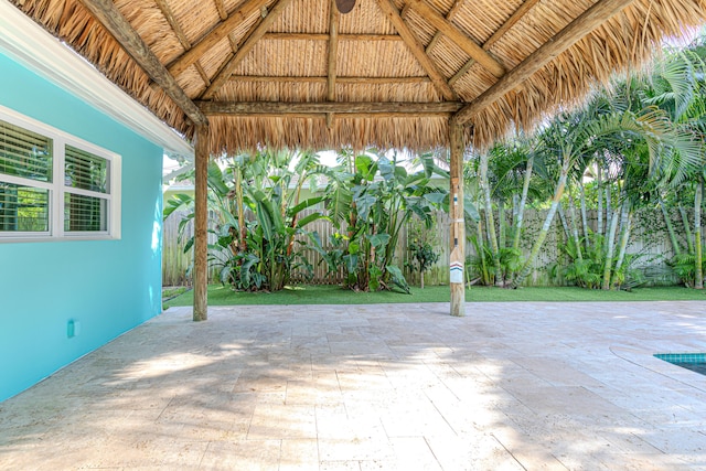
[[[516,126],[532,129],[557,108],[577,106],[592,87],[608,85],[616,74],[639,73],[665,38],[702,23],[705,7],[698,0],[635,1],[539,69],[524,87],[475,115],[473,146],[488,149]]]

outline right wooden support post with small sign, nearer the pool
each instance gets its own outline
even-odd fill
[[[449,120],[450,149],[450,193],[449,216],[451,217],[449,285],[451,286],[451,315],[466,315],[466,221],[463,220],[463,127]]]

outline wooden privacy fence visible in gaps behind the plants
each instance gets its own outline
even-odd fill
[[[315,210],[308,210],[313,212]],[[191,279],[188,276],[188,269],[192,260],[191,250],[188,254],[183,253],[185,242],[193,234],[193,225],[189,223],[185,227],[185,234],[182,242],[178,240],[178,231],[180,221],[185,216],[184,212],[174,212],[165,221],[163,225],[163,249],[162,249],[162,282],[164,286],[181,286],[191,285]],[[301,216],[306,216],[309,213],[302,213]],[[530,251],[530,246],[536,238],[539,228],[546,216],[545,211],[527,210],[525,212],[524,234],[522,238],[522,249],[524,254]],[[596,212],[589,212],[589,225],[592,229],[596,229]],[[673,223],[675,227],[681,227],[681,216],[675,212],[673,214]],[[309,231],[315,231],[321,237],[321,242],[324,248],[331,248],[330,236],[333,235],[336,229],[333,225],[325,221],[319,220],[307,226]],[[446,213],[438,212],[436,215],[436,224],[432,231],[436,232],[437,244],[435,250],[440,255],[439,260],[429,271],[425,275],[425,285],[446,285],[449,281],[449,218]],[[344,233],[344,229],[343,229]],[[419,277],[417,274],[410,274],[406,268],[407,261],[409,261],[408,253],[408,234],[409,227],[404,227],[400,231],[399,243],[395,253],[395,265],[404,270],[407,280],[410,283],[418,285]],[[467,236],[473,236],[477,234],[474,224],[467,224]],[[300,243],[308,243],[306,237],[298,236]],[[214,243],[214,236],[210,236],[208,243]],[[566,237],[564,229],[557,215],[554,220],[553,227],[547,235],[546,240],[542,247],[539,256],[537,257],[533,274],[525,281],[528,286],[548,286],[552,285],[548,268],[556,264],[563,253],[560,247],[566,245]],[[328,274],[328,266],[321,261],[321,256],[312,249],[304,248],[303,245],[298,244],[302,255],[313,266],[313,277],[307,279],[303,269],[295,269],[292,272],[292,282],[312,282],[318,285],[338,285],[343,281],[343,271],[339,270],[336,274]],[[475,249],[470,242],[466,245],[467,256],[475,255]],[[633,218],[632,235],[630,237],[630,244],[628,246],[628,254],[635,255],[633,265],[635,267],[650,267],[655,270],[660,270],[666,267],[665,260],[668,260],[673,256],[672,246],[670,244],[668,236],[662,220],[661,213],[657,211],[642,210],[639,211]],[[666,279],[666,281],[674,281],[673,278]],[[211,281],[218,281],[218,274],[215,270],[211,272]]]

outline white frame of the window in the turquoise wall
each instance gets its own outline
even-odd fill
[[[85,141],[61,129],[54,128],[36,119],[22,115],[0,105],[0,120],[40,133],[52,140],[52,181],[25,179],[0,172],[0,181],[49,191],[49,231],[43,232],[0,232],[0,244],[9,242],[47,242],[47,240],[106,240],[121,237],[121,168],[122,157],[92,142]],[[65,185],[66,146],[89,152],[105,159],[108,165],[107,193],[83,190]],[[106,231],[65,231],[64,195],[78,194],[106,200]]]

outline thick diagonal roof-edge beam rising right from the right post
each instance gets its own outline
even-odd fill
[[[600,0],[581,15],[571,21],[554,38],[530,54],[515,68],[510,71],[481,96],[463,107],[453,117],[458,124],[468,122],[473,115],[491,105],[501,96],[517,87],[539,68],[547,65],[557,55],[571,47],[588,33],[630,6],[634,0]]]

